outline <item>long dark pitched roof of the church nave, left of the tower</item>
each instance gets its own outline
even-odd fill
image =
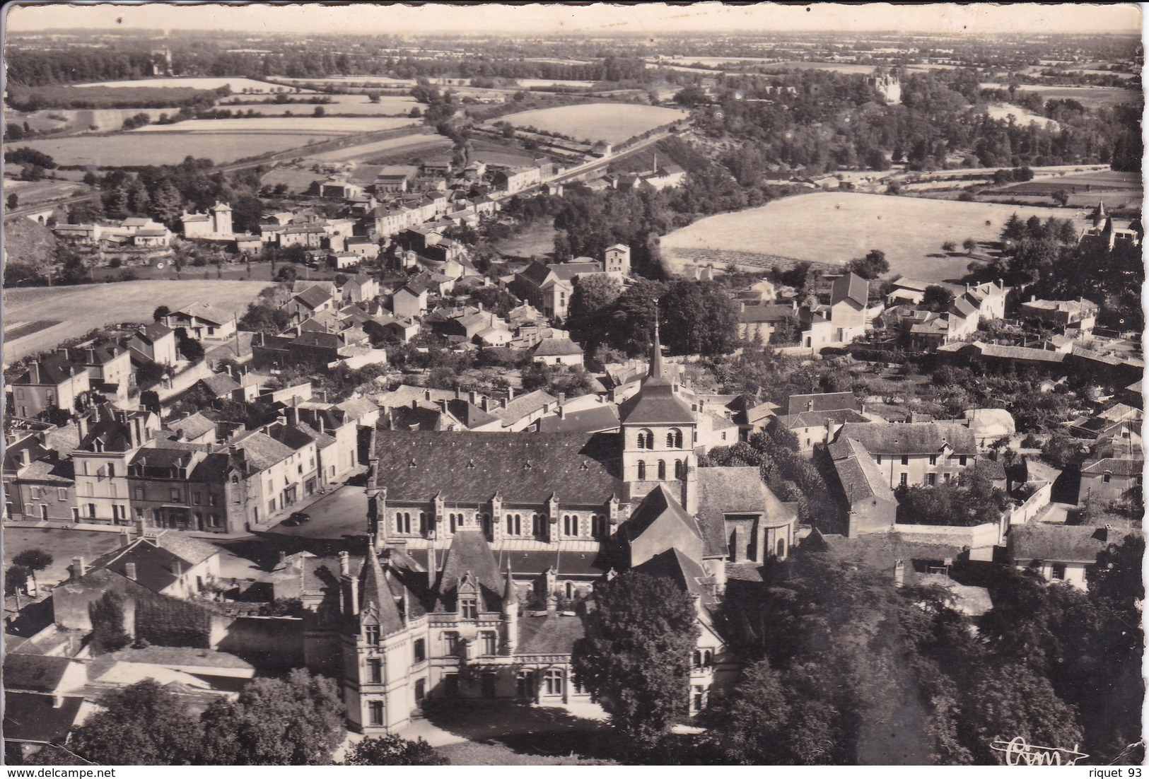
[[[622,494],[618,435],[377,431],[375,484],[390,501],[606,502]]]

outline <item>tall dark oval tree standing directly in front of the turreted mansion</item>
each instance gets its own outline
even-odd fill
[[[670,579],[637,571],[595,601],[587,637],[574,643],[574,678],[635,748],[653,748],[686,714],[700,634],[693,601]]]

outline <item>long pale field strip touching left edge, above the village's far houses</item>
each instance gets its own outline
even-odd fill
[[[163,165],[182,162],[188,155],[223,164],[268,152],[307,146],[311,140],[326,140],[332,134],[334,133],[123,132],[115,136],[18,141],[6,144],[5,148],[31,146],[48,154],[61,165]]]

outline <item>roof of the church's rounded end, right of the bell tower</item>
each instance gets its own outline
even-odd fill
[[[700,468],[697,473],[697,517],[707,556],[728,552],[726,514],[762,514],[762,524],[766,527],[785,525],[796,518],[794,509],[778,500],[753,465]]]

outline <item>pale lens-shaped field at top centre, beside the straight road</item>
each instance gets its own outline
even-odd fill
[[[540,108],[503,116],[502,119],[519,128],[532,126],[545,132],[561,132],[580,140],[604,140],[608,144],[618,144],[686,116],[686,111],[672,108],[601,102]]]

